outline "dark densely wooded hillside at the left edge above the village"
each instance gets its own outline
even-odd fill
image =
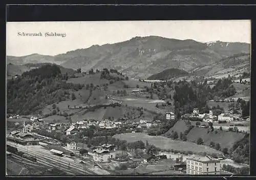
[[[66,83],[68,74],[61,74],[57,65],[46,64],[26,71],[7,82],[7,113],[28,115],[41,113],[46,105],[70,98],[69,90],[84,85]]]

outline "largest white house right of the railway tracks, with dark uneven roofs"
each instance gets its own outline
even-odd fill
[[[109,162],[116,158],[115,145],[103,144],[93,150],[93,160],[97,162]]]

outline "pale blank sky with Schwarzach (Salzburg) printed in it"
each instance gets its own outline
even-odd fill
[[[18,36],[23,32],[40,32],[42,36]],[[66,37],[45,37],[45,33],[65,33]],[[251,27],[250,20],[7,22],[6,54],[54,56],[136,36],[250,43]]]

